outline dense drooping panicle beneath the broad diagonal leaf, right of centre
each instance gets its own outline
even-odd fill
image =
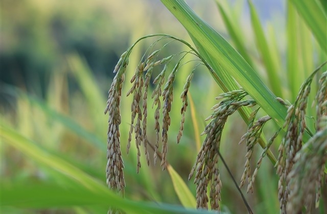
[[[247,93],[243,90],[219,95],[217,99],[225,99],[213,107],[213,114],[208,117],[211,122],[206,125],[202,133],[206,134],[206,138],[189,175],[189,179],[191,179],[195,172],[194,183],[196,183],[197,208],[208,208],[206,190],[210,183],[211,192],[209,197],[212,209],[220,209],[218,201],[221,199],[220,191],[222,183],[218,169],[219,156],[217,151],[219,151],[222,130],[227,117],[237,111],[241,106],[256,104],[254,100],[242,100],[246,95]]]

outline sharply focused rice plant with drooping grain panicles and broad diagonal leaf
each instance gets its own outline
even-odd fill
[[[189,179],[191,179],[195,174],[194,183],[196,184],[197,208],[208,209],[208,202],[210,201],[211,209],[220,210],[220,201],[222,200],[220,194],[223,182],[220,179],[218,161],[222,158],[219,152],[221,135],[228,116],[237,111],[248,125],[248,130],[240,141],[240,143],[246,143],[247,150],[245,154],[245,169],[240,181],[240,188],[242,188],[247,180],[247,192],[253,192],[253,183],[260,169],[262,159],[265,156],[269,156],[279,176],[278,200],[281,212],[309,212],[313,210],[314,207],[318,208],[321,188],[326,174],[325,166],[327,160],[327,82],[325,78],[327,72],[320,73],[321,68],[324,67],[326,63],[323,62],[307,77],[306,81],[301,85],[295,101],[289,103],[274,94],[276,93],[278,96],[281,96],[283,95],[283,91],[273,85],[276,83],[278,77],[276,76],[275,69],[273,69],[274,67],[271,65],[273,62],[272,59],[270,59],[271,57],[269,57],[270,55],[266,55],[266,53],[269,53],[267,45],[264,45],[261,51],[269,77],[275,81],[272,82],[274,93],[268,89],[258,73],[249,65],[252,63],[247,63],[245,61],[246,57],[243,58],[223,37],[214,31],[211,26],[197,17],[185,2],[179,0],[162,0],[161,2],[176,16],[183,24],[184,28],[188,30],[196,48],[176,37],[158,34],[140,38],[122,54],[114,69],[116,75],[109,89],[109,97],[105,108],[105,114],[109,114],[109,127],[107,132],[108,162],[106,167],[106,177],[109,188],[124,195],[126,184],[123,173],[124,164],[120,147],[119,127],[122,121],[120,102],[121,99],[124,99],[124,97],[122,97],[122,88],[125,81],[129,56],[132,49],[139,41],[152,37],[159,37],[150,45],[141,61],[139,61],[138,66],[135,68],[135,73],[130,80],[133,84],[132,88],[127,93],[127,96],[133,95],[127,151],[130,148],[132,136],[134,136],[137,149],[137,173],[142,166],[140,162],[140,147],[142,144],[144,145],[144,155],[146,156],[147,165],[150,163],[148,152],[148,147],[150,146],[154,150],[154,164],[156,164],[157,157],[159,156],[162,170],[167,169],[169,128],[171,123],[178,122],[174,121],[176,118],[170,117],[174,98],[174,80],[176,75],[178,75],[180,66],[187,63],[182,61],[183,57],[192,54],[198,58],[200,61],[199,64],[207,68],[217,84],[224,91],[223,94],[216,97],[217,100],[222,99],[222,101],[213,106],[213,113],[206,118],[206,121],[210,121],[205,126],[205,130],[202,133],[202,135],[206,135],[206,138],[202,143],[202,147],[189,175]],[[256,36],[258,40],[261,39],[262,43],[265,44],[260,22],[258,22],[258,17],[256,17],[256,12],[251,1],[248,1],[248,4],[251,8],[255,33],[258,33]],[[305,4],[300,5],[294,3],[294,5],[299,10],[299,13],[302,14],[303,7],[305,7],[303,5]],[[320,3],[315,2],[307,6],[318,7],[320,18],[326,20],[325,11],[322,10]],[[220,9],[223,10],[222,7]],[[310,13],[310,11],[305,11],[305,13]],[[323,33],[318,30],[319,28],[324,28],[324,26],[319,26],[319,23],[313,23],[314,20],[310,17],[308,18],[306,14],[304,14],[303,17],[306,22],[313,24],[310,28],[312,28],[313,35],[317,39],[321,51],[325,54],[326,45],[325,41],[320,39],[320,34],[325,35],[326,31]],[[156,47],[159,41],[167,39],[169,41],[164,45],[161,45],[159,48]],[[166,57],[160,57],[160,51],[169,45],[170,40],[182,42],[188,46],[190,50],[173,53]],[[175,58],[177,58],[176,61],[173,61]],[[174,65],[170,66],[172,63],[174,63]],[[161,65],[163,66],[161,72],[159,72],[157,76],[151,78],[153,71],[157,69],[157,67],[160,68]],[[181,91],[181,120],[176,139],[177,143],[179,143],[182,137],[185,123],[184,114],[188,107],[188,92],[192,85],[194,72],[195,70],[192,70],[189,73],[185,80],[183,91]],[[317,86],[314,86],[318,87],[314,99],[316,103],[316,116],[314,117],[315,127],[310,127],[306,122],[306,113],[311,84],[315,75],[318,75],[319,78]],[[152,108],[156,107],[155,114],[152,116],[152,120],[155,120],[155,126],[151,127],[152,131],[154,130],[156,133],[156,141],[153,145],[149,142],[147,136],[149,131],[147,121],[150,120],[148,115],[148,91],[149,87],[152,86],[150,85],[152,79],[154,87],[151,96],[153,99]],[[260,109],[267,115],[258,118],[257,114]],[[162,116],[161,125],[159,122],[160,115]],[[263,135],[263,127],[268,121],[274,121],[276,128],[271,138],[267,141]],[[314,128],[314,130],[311,128]],[[274,142],[279,133],[283,136],[282,141]],[[159,151],[160,138],[162,141],[161,152]],[[259,144],[263,148],[263,151],[253,171],[250,162],[253,158],[252,152],[256,144]],[[277,159],[269,150],[272,144],[279,145]],[[307,185],[304,186],[305,184]],[[209,194],[207,195],[208,186]],[[109,210],[109,212],[111,211],[119,212],[114,209]],[[250,207],[248,207],[248,211],[252,212]]]

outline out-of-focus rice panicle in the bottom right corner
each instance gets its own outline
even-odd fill
[[[319,130],[297,152],[287,179],[289,196],[286,205],[287,213],[299,213],[303,205],[308,212],[317,205],[321,181],[327,162],[327,117],[322,116],[317,124]]]

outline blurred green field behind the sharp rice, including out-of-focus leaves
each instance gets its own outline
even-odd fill
[[[290,3],[284,1],[282,11],[272,10],[262,20],[267,48],[260,49],[260,36],[256,35],[259,30],[252,30],[254,24],[246,13],[246,1],[203,2],[190,1],[190,5],[236,47],[267,87],[283,99],[293,102],[300,84],[326,60],[326,52],[314,40],[305,22],[292,11]],[[286,21],[286,11],[292,16],[288,20],[296,23],[291,24],[294,29],[287,28],[290,23]],[[153,165],[153,151],[150,150],[149,167],[141,155],[139,174],[133,141],[129,154],[126,152],[132,98],[125,95],[131,87],[129,79],[153,39],[133,49],[125,77],[128,81],[123,87],[120,131],[126,200],[106,191],[105,184],[108,116],[103,111],[113,68],[120,55],[137,38],[147,34],[167,33],[192,43],[174,16],[159,1],[146,0],[83,3],[5,0],[1,14],[1,212],[102,213],[107,212],[109,204],[129,206],[128,213],[183,211],[185,204],[177,194],[181,190],[174,188],[176,180],[172,181],[167,170],[162,171],[159,164]],[[173,42],[162,51],[162,56],[188,50],[181,43]],[[290,57],[290,51],[296,56]],[[263,56],[267,54],[269,57],[265,59]],[[200,142],[205,138],[201,136],[199,142],[196,136],[203,131],[204,119],[217,103],[215,97],[223,91],[204,66],[196,68],[190,88],[194,106],[186,111],[183,137],[177,145],[182,106],[179,96],[186,77],[199,63],[193,56],[185,58],[184,62],[190,62],[178,71],[174,84],[167,160],[192,193],[184,197],[192,201],[195,184],[188,176]],[[290,63],[291,60],[294,62]],[[288,72],[290,69],[297,72]],[[317,81],[312,90],[317,90]],[[314,94],[309,98],[311,102],[313,98]],[[309,108],[308,117],[314,114],[313,108]],[[148,115],[149,141],[155,142],[155,132],[151,129],[154,110],[149,108]],[[260,112],[260,116],[264,115]],[[314,129],[314,120],[307,122]],[[232,115],[221,144],[221,153],[238,182],[246,154],[245,145],[238,143],[246,130],[242,118]],[[275,124],[267,124],[264,128],[267,139],[275,130]],[[281,139],[279,136],[271,147],[275,156]],[[253,168],[261,152],[258,145],[251,163]],[[245,213],[246,206],[236,186],[219,164],[222,211]],[[254,183],[254,193],[246,194],[246,188],[242,189],[255,213],[278,212],[277,181],[273,165],[265,158]],[[326,201],[327,196],[324,194],[321,200]]]

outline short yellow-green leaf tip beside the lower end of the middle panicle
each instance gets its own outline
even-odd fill
[[[184,207],[196,208],[196,200],[183,179],[170,164],[168,164],[167,170],[169,172],[170,178],[172,179],[175,192],[181,204]]]

